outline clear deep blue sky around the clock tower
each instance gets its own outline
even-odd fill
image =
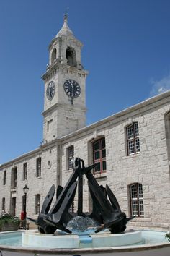
[[[169,0],[0,0],[0,163],[39,147],[48,45],[84,43],[87,124],[170,88]]]

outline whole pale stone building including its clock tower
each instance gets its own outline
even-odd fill
[[[0,211],[20,216],[27,184],[27,216],[36,218],[52,184],[64,186],[73,158],[108,184],[131,226],[170,228],[170,92],[162,93],[86,127],[86,76],[82,43],[64,18],[49,46],[45,82],[43,142],[0,166]],[[75,197],[73,210],[77,207]],[[91,199],[84,177],[84,211]]]

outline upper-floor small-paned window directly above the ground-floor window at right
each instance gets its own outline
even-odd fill
[[[128,155],[140,152],[138,123],[130,124],[127,129]]]

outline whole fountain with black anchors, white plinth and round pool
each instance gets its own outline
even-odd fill
[[[0,250],[19,250],[22,252],[40,252],[61,255],[76,253],[109,253],[119,252],[128,255],[133,251],[143,255],[143,250],[153,252],[158,249],[159,255],[169,255],[168,241],[164,232],[126,230],[131,219],[120,209],[120,205],[109,186],[99,186],[91,169],[84,166],[84,161],[76,158],[73,174],[65,187],[58,186],[56,200],[51,207],[55,195],[55,185],[50,188],[42,205],[37,220],[28,218],[37,224],[37,230],[15,231],[0,234]],[[89,192],[92,199],[92,212],[83,212],[83,175],[88,179]],[[77,213],[69,211],[78,187]],[[4,240],[3,240],[4,239]],[[6,246],[10,241],[14,247]],[[14,241],[12,241],[12,239]],[[152,240],[152,241],[151,241]],[[2,245],[6,244],[6,245]],[[17,245],[17,246],[16,246]],[[164,250],[164,252],[160,251]],[[154,252],[156,255],[156,252]]]

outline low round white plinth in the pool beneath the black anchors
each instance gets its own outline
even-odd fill
[[[130,244],[143,243],[141,231],[126,231],[123,234],[110,234],[100,232],[99,234],[66,234],[58,231],[57,234],[40,234],[38,231],[29,230],[22,234],[22,245],[24,247],[41,248],[99,248],[117,247]]]

